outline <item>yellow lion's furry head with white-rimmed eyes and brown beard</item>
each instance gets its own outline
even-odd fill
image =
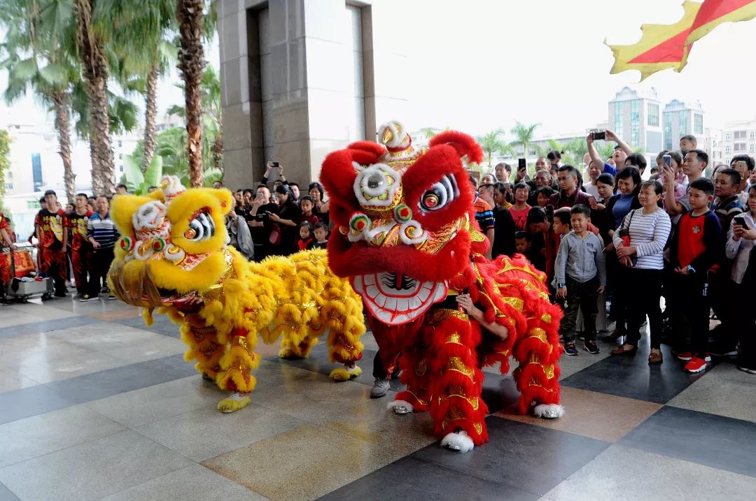
[[[227,189],[184,189],[163,178],[147,196],[118,195],[111,217],[121,233],[108,273],[114,294],[145,308],[179,305],[222,281],[234,254],[226,247]]]

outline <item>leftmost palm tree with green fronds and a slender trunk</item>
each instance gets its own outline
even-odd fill
[[[8,69],[6,102],[12,103],[30,87],[54,112],[58,153],[63,161],[66,198],[73,203],[76,175],[71,162],[70,88],[78,78],[73,48],[65,41],[73,39],[70,5],[55,0],[40,0],[29,5],[24,0],[5,2],[2,21],[5,41],[0,52],[7,58],[0,63]],[[28,59],[23,57],[30,56]],[[39,63],[46,63],[40,67]]]

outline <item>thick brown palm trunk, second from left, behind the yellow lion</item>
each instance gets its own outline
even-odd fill
[[[115,185],[115,164],[110,146],[110,117],[107,113],[107,60],[101,40],[91,26],[92,4],[95,0],[75,0],[76,43],[82,59],[87,83],[91,131],[89,153],[92,164],[92,191],[110,195]]]

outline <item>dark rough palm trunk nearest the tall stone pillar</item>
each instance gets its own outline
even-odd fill
[[[181,33],[178,69],[184,78],[187,153],[191,186],[202,186],[202,106],[200,85],[205,69],[202,47],[203,0],[178,0],[176,18]]]

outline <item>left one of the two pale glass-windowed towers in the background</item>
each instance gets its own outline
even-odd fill
[[[655,156],[662,150],[661,108],[654,88],[625,87],[609,101],[609,128],[636,151]]]

